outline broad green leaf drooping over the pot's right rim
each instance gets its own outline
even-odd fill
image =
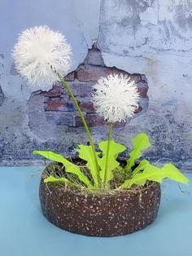
[[[189,183],[189,180],[185,175],[182,174],[176,166],[173,166],[172,163],[165,164],[162,168],[152,166],[151,164],[148,164],[143,168],[144,170],[142,172],[135,174],[132,179],[126,180],[120,188],[131,188],[133,184],[144,185],[146,180],[161,183],[165,178],[172,179],[180,183]]]

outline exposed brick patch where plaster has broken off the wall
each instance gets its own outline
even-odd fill
[[[146,77],[141,74],[129,74],[119,68],[108,68],[99,51],[95,46],[89,49],[85,60],[65,77],[72,88],[81,110],[85,113],[85,118],[89,127],[106,126],[102,117],[95,113],[94,104],[91,102],[91,95],[94,93],[93,86],[102,77],[107,77],[111,73],[124,73],[132,81],[136,82],[140,93],[139,107],[135,112],[135,117],[146,112],[148,108]],[[38,139],[46,141],[47,138],[55,139],[59,143],[60,130],[63,133],[78,132],[78,127],[83,126],[72,99],[67,90],[62,85],[55,84],[49,91],[37,90],[33,92],[28,100],[28,126]],[[117,122],[115,127],[125,126],[126,123]],[[46,127],[46,129],[45,129]]]

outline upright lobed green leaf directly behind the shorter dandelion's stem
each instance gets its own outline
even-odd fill
[[[108,140],[103,140],[100,143],[98,143],[99,148],[103,152],[103,157],[98,158],[98,165],[101,168],[100,177],[102,181],[104,180],[105,166],[107,160],[107,143]],[[107,182],[113,179],[112,170],[115,170],[120,165],[120,163],[116,161],[116,158],[118,157],[119,153],[124,152],[125,149],[126,147],[124,145],[116,143],[114,140],[111,140],[107,166]]]

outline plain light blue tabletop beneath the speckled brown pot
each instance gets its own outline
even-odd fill
[[[101,238],[65,232],[44,218],[41,170],[0,168],[0,256],[192,256],[192,174],[190,186],[181,189],[164,181],[155,223],[128,236]]]

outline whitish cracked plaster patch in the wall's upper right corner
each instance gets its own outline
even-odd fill
[[[103,0],[98,45],[117,55],[143,51],[188,51],[192,45],[192,7],[184,0],[152,2],[139,10],[137,1]]]

